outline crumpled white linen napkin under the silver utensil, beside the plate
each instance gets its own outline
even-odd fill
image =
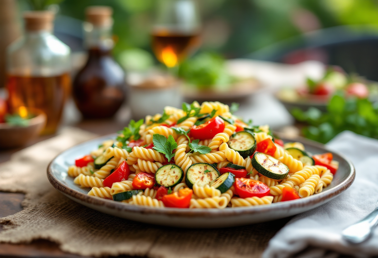
[[[356,178],[339,197],[294,217],[269,242],[263,258],[324,257],[328,251],[357,257],[378,255],[378,230],[362,244],[349,244],[342,230],[375,209],[378,200],[378,140],[344,131],[327,146],[344,154],[356,168]],[[309,248],[307,248],[309,247]],[[332,256],[338,256],[333,253]]]

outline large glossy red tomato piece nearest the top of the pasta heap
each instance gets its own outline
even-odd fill
[[[206,123],[192,126],[190,135],[194,139],[205,140],[213,138],[216,134],[223,132],[224,129],[225,121],[220,117],[214,117]]]

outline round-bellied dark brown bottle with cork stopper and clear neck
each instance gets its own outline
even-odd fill
[[[126,97],[125,74],[112,58],[112,8],[90,6],[84,22],[88,61],[73,82],[73,97],[85,118],[112,117]]]

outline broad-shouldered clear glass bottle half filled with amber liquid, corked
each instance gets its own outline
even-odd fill
[[[70,92],[70,48],[53,34],[54,14],[32,11],[23,14],[25,35],[7,49],[7,89],[11,112],[20,107],[47,115],[43,134],[59,125]]]

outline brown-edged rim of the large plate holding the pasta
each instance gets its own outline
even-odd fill
[[[156,215],[168,215],[168,216],[175,216],[175,217],[192,217],[192,218],[225,217],[225,216],[233,217],[235,215],[252,215],[256,213],[275,212],[277,210],[283,211],[283,210],[290,210],[290,209],[301,209],[303,207],[313,206],[318,203],[324,203],[327,200],[332,200],[332,198],[338,196],[340,193],[348,189],[352,185],[353,181],[355,180],[355,175],[356,175],[355,167],[353,163],[349,160],[349,158],[346,158],[343,154],[339,154],[338,152],[328,149],[324,144],[317,143],[317,142],[314,142],[305,138],[301,138],[301,137],[298,137],[296,139],[302,143],[312,145],[314,147],[321,147],[324,150],[332,152],[339,158],[344,159],[348,163],[351,171],[347,178],[341,181],[341,183],[339,183],[338,185],[334,186],[332,189],[328,189],[327,191],[318,193],[316,195],[311,195],[310,197],[301,198],[300,200],[274,203],[273,205],[234,207],[232,209],[180,209],[180,208],[170,208],[170,207],[165,207],[164,209],[162,209],[162,208],[155,208],[155,207],[135,206],[135,205],[128,205],[125,203],[120,203],[113,200],[99,198],[99,197],[95,197],[95,196],[91,196],[91,195],[87,195],[85,193],[79,192],[63,184],[62,182],[60,182],[60,180],[58,180],[53,175],[52,164],[64,152],[68,152],[72,148],[88,143],[90,141],[100,140],[102,138],[104,139],[112,138],[115,135],[117,134],[108,134],[108,135],[103,135],[100,137],[93,138],[88,141],[84,141],[82,143],[71,146],[70,148],[56,155],[56,157],[54,157],[53,160],[50,161],[47,167],[47,177],[51,185],[55,189],[57,189],[59,192],[62,192],[65,195],[69,195],[73,197],[74,199],[79,199],[80,201],[88,203],[90,205],[102,206],[102,207],[110,208],[112,210],[116,210],[119,212],[124,211],[124,212],[143,213],[143,214],[148,214],[148,215],[156,214]],[[290,140],[293,140],[293,138],[290,138]]]

